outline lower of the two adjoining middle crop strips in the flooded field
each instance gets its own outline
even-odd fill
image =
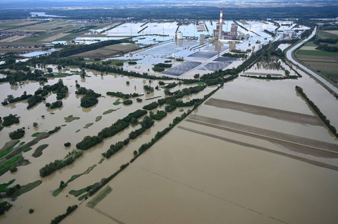
[[[262,140],[266,140],[266,141],[270,141],[270,142],[275,142],[277,144],[282,144],[282,145],[287,145],[287,146],[291,146],[291,147],[294,147],[294,148],[304,149],[304,150],[307,150],[307,151],[311,151],[311,152],[315,152],[315,153],[319,153],[319,154],[322,154],[322,155],[329,156],[330,158],[333,158],[333,157],[338,158],[337,152],[313,148],[313,147],[310,147],[310,146],[300,145],[300,144],[297,144],[297,143],[288,142],[288,141],[284,141],[284,140],[280,140],[280,139],[276,139],[276,138],[270,138],[270,137],[265,137],[265,136],[247,133],[247,132],[243,132],[243,131],[238,131],[238,130],[230,129],[230,128],[226,128],[226,127],[220,127],[220,126],[217,126],[217,125],[203,123],[203,122],[196,121],[196,120],[187,119],[186,121],[196,123],[196,124],[200,124],[200,125],[204,125],[204,126],[208,126],[208,127],[211,127],[211,128],[220,129],[220,130],[223,130],[223,131],[233,132],[233,133],[237,133],[237,134],[241,134],[241,135],[245,135],[245,136],[250,136],[250,137],[253,137],[253,138],[258,138],[258,139],[262,139]]]

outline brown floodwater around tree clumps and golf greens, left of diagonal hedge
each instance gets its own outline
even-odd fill
[[[55,66],[51,66],[56,71]],[[74,68],[67,67],[68,69],[75,70]],[[69,71],[64,71],[69,73]],[[27,183],[31,183],[35,180],[41,179],[43,183],[33,189],[32,191],[25,193],[18,197],[15,202],[12,202],[15,206],[22,206],[20,210],[9,209],[4,215],[0,217],[0,220],[8,223],[18,223],[19,220],[25,219],[27,223],[35,223],[37,217],[39,219],[49,222],[55,216],[59,214],[63,214],[66,211],[66,208],[70,204],[78,204],[79,201],[74,196],[70,195],[68,192],[70,190],[78,190],[88,185],[91,185],[97,181],[100,181],[103,177],[107,177],[111,175],[113,170],[117,170],[122,163],[128,162],[132,157],[132,152],[137,150],[139,146],[143,143],[146,143],[151,140],[154,134],[158,131],[162,131],[165,127],[168,127],[169,123],[172,122],[173,118],[179,116],[184,112],[180,112],[181,108],[177,108],[173,112],[168,113],[168,115],[163,118],[161,121],[155,121],[155,124],[152,128],[148,129],[138,138],[131,140],[130,143],[119,152],[117,152],[110,159],[105,159],[102,164],[97,164],[103,157],[101,156],[102,152],[105,152],[111,144],[115,144],[117,141],[124,140],[128,137],[128,134],[132,130],[139,129],[140,126],[136,127],[128,127],[124,131],[119,134],[105,139],[102,143],[92,147],[84,151],[84,155],[78,158],[73,164],[64,167],[61,170],[58,170],[47,177],[41,178],[39,176],[39,169],[43,167],[45,164],[52,162],[56,159],[62,159],[66,156],[68,151],[72,148],[75,148],[75,144],[82,140],[82,138],[86,135],[96,135],[101,129],[110,126],[117,119],[123,118],[130,112],[134,112],[137,109],[142,109],[144,105],[147,105],[151,102],[157,101],[158,99],[146,100],[155,96],[164,97],[164,91],[155,90],[154,93],[145,94],[140,98],[143,99],[142,103],[136,102],[135,98],[132,99],[133,103],[128,106],[117,105],[114,106],[113,103],[118,99],[116,97],[111,97],[106,95],[107,91],[122,91],[124,93],[133,93],[138,92],[142,93],[143,85],[149,85],[148,79],[142,78],[134,78],[127,76],[118,76],[112,74],[104,74],[103,77],[100,76],[100,73],[86,70],[87,75],[91,77],[86,77],[85,79],[80,79],[79,76],[73,75],[66,78],[62,78],[64,84],[69,88],[69,94],[62,99],[63,106],[61,108],[55,109],[47,109],[45,107],[45,103],[52,103],[56,101],[56,95],[50,94],[46,97],[46,102],[39,103],[37,106],[26,109],[27,101],[20,101],[16,103],[9,104],[7,106],[1,106],[0,116],[7,116],[9,113],[18,114],[21,116],[20,123],[16,125],[11,125],[9,127],[5,127],[1,131],[0,142],[3,144],[9,141],[8,133],[16,130],[17,128],[25,127],[25,136],[21,138],[21,141],[28,142],[33,139],[31,135],[35,132],[44,132],[48,130],[52,130],[55,126],[61,124],[67,124],[67,126],[62,127],[60,131],[52,134],[49,138],[41,140],[38,144],[34,145],[32,149],[28,152],[24,152],[23,156],[25,159],[28,159],[31,164],[27,166],[18,167],[18,171],[15,173],[7,172],[1,176],[1,183],[7,183],[11,179],[16,179],[13,183],[24,185]],[[95,76],[97,74],[97,76]],[[54,84],[57,82],[57,78],[51,78],[48,81],[48,84]],[[80,97],[74,94],[75,92],[75,80],[78,80],[78,83],[86,88],[91,88],[97,93],[101,93],[104,97],[99,97],[99,103],[91,108],[81,108],[80,107]],[[129,81],[130,84],[126,85],[126,81]],[[169,83],[172,81],[164,80],[165,83]],[[2,91],[0,92],[0,97],[5,98],[8,94],[13,94],[15,97],[19,96],[23,93],[23,91],[27,91],[28,94],[33,94],[33,92],[39,88],[39,83],[33,81],[25,81],[21,86],[11,87],[8,83],[1,83],[0,87]],[[153,87],[158,85],[158,80],[152,81],[150,84]],[[177,89],[182,89],[185,87],[189,87],[193,85],[179,85],[171,89],[171,91],[175,91]],[[136,87],[136,89],[135,89]],[[206,89],[200,91],[197,94],[189,95],[184,97],[184,101],[192,100],[196,98],[201,98],[203,95],[209,93],[215,89],[215,86],[207,87]],[[104,111],[109,109],[118,109],[112,113],[102,115]],[[189,108],[183,108],[184,111],[187,111]],[[164,110],[164,107],[156,108],[156,110]],[[50,114],[50,112],[55,114]],[[45,118],[41,118],[41,115],[45,115]],[[74,120],[72,122],[66,123],[64,117],[69,115],[73,115],[75,117],[80,117],[78,120]],[[97,116],[102,116],[102,119],[98,122],[95,122],[95,118]],[[141,118],[142,119],[142,118]],[[32,123],[38,122],[38,127],[33,128]],[[87,124],[93,122],[94,124],[90,126],[88,129],[84,129],[83,127]],[[29,127],[29,129],[28,129]],[[76,130],[80,131],[75,133]],[[71,142],[71,147],[64,147],[65,142]],[[39,158],[32,157],[32,153],[35,148],[41,144],[49,144],[49,146],[43,151],[42,156]],[[97,166],[86,175],[83,175],[76,180],[72,181],[67,188],[65,188],[60,195],[57,197],[52,196],[53,190],[57,189],[61,180],[67,181],[70,179],[72,175],[83,173],[87,170],[88,167],[97,164]],[[11,187],[11,186],[9,186]],[[68,195],[68,197],[66,197]],[[39,197],[39,200],[36,198]],[[4,200],[0,200],[4,201]],[[51,202],[57,204],[52,211],[46,211],[46,205]],[[29,208],[35,209],[34,215],[29,216],[27,211]]]

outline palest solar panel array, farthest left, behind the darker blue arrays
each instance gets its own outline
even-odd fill
[[[182,43],[179,45],[178,43]],[[165,57],[171,55],[179,50],[182,50],[188,46],[193,46],[199,43],[199,41],[191,40],[191,41],[179,41],[177,44],[175,42],[171,42],[170,44],[165,44],[159,47],[154,47],[149,50],[142,52],[143,55],[148,56],[160,56]]]

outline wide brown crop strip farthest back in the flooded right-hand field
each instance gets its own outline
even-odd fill
[[[316,126],[325,127],[324,123],[321,122],[317,116],[309,115],[309,114],[301,114],[286,110],[273,109],[268,107],[261,107],[250,104],[243,104],[233,101],[227,100],[219,100],[215,98],[210,98],[206,103],[206,105],[225,108],[230,110],[242,111],[250,114],[256,114],[261,116],[272,117],[279,120],[301,123],[301,124],[311,124]]]

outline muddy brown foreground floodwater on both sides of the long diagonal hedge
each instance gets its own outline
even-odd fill
[[[262,71],[256,70],[256,72]],[[306,117],[314,118],[317,114],[295,91],[295,85],[298,85],[303,87],[304,92],[330,119],[331,124],[338,127],[336,116],[338,101],[315,80],[298,72],[303,78],[297,80],[259,80],[238,77],[225,83],[211,98],[223,102],[237,102],[237,105],[242,106],[255,105],[293,112],[291,114],[305,114]],[[184,111],[189,109],[189,107],[177,108],[162,120],[155,121],[153,127],[131,140],[128,145],[108,159],[102,161],[101,153],[105,152],[111,144],[127,138],[131,131],[139,128],[139,125],[135,127],[130,125],[117,135],[104,139],[103,142],[85,150],[83,156],[71,165],[41,178],[39,176],[41,167],[55,159],[64,158],[84,136],[96,135],[102,128],[110,126],[117,119],[161,98],[144,101],[146,99],[165,97],[163,90],[155,90],[154,93],[141,96],[142,103],[137,103],[133,98],[131,105],[115,106],[113,103],[117,98],[106,95],[107,91],[141,93],[144,92],[143,85],[149,84],[148,80],[112,74],[101,77],[98,72],[90,70],[87,71],[87,75],[91,77],[82,80],[77,75],[63,78],[70,93],[62,99],[61,108],[46,109],[43,102],[27,110],[26,101],[1,106],[1,117],[9,113],[21,116],[19,124],[5,127],[1,131],[2,145],[10,140],[8,133],[17,128],[26,128],[26,134],[20,141],[28,142],[33,139],[31,135],[35,132],[49,131],[55,126],[66,124],[64,117],[73,115],[80,119],[67,123],[67,126],[62,127],[60,131],[42,139],[38,144],[33,145],[31,150],[23,152],[23,157],[31,164],[18,167],[15,173],[6,172],[1,176],[0,184],[15,178],[11,186],[24,185],[40,179],[43,183],[12,202],[20,209],[10,208],[0,216],[0,222],[21,223],[21,220],[24,220],[24,223],[30,224],[41,220],[43,223],[48,223],[55,216],[65,213],[69,205],[79,205],[81,202],[69,194],[70,190],[85,188],[112,175],[122,164],[133,158],[134,150],[138,150],[143,143],[149,142],[158,131],[168,127],[173,118],[184,113],[180,112],[180,109]],[[99,103],[93,107],[81,108],[80,96],[74,94],[75,80],[78,80],[81,86],[101,93],[105,98],[99,97]],[[126,85],[126,81],[130,84]],[[48,84],[56,82],[57,78],[54,78],[50,79]],[[16,97],[23,91],[32,94],[39,87],[35,82],[24,83],[18,87],[2,83],[0,98],[8,94]],[[153,80],[151,85],[155,87],[158,81]],[[176,86],[171,91],[189,86],[192,85]],[[199,93],[185,96],[183,100],[202,98],[215,88],[215,86],[207,87]],[[56,101],[55,94],[50,94],[46,98],[48,103]],[[187,119],[191,120],[193,117],[187,117],[109,181],[106,186],[110,186],[112,190],[105,194],[105,197],[93,208],[86,206],[87,202],[106,186],[80,204],[62,223],[336,223],[338,171],[316,165],[338,166],[336,157],[328,156],[328,153],[320,156],[322,154],[319,153],[320,150],[334,152],[330,145],[336,147],[335,145],[338,144],[338,139],[326,126],[317,123],[289,122],[288,119],[278,119],[279,117],[266,116],[266,114],[263,116],[260,113],[247,113],[236,109],[236,104],[229,108],[208,105],[206,102],[194,110],[192,115],[227,121],[229,122],[227,128],[251,134],[244,135],[215,128],[222,127],[221,122],[214,122],[214,126],[189,122]],[[116,110],[118,108],[120,109]],[[103,115],[108,110],[116,111]],[[152,111],[156,110],[164,110],[164,106]],[[45,115],[45,118],[41,118],[41,115]],[[95,122],[98,116],[102,118]],[[32,127],[33,122],[38,122],[37,128]],[[93,124],[83,128],[88,123]],[[242,126],[241,128],[236,125],[229,127],[230,124]],[[248,126],[253,128],[244,130]],[[75,133],[76,130],[81,131]],[[308,150],[296,150],[293,146],[254,137],[252,134],[283,141],[292,140],[291,142],[299,145],[316,148],[318,152],[308,153]],[[224,139],[232,141],[224,141]],[[297,142],[297,139],[302,141]],[[310,141],[303,142],[304,139]],[[71,142],[71,146],[65,147],[66,142]],[[321,146],[318,142],[325,144]],[[43,150],[42,155],[38,158],[32,157],[35,149],[43,144],[48,144],[48,147]],[[268,150],[260,150],[261,148]],[[276,153],[271,153],[272,151]],[[285,154],[290,156],[283,156]],[[303,160],[295,159],[298,157]],[[314,161],[314,163],[306,161]],[[71,181],[57,197],[52,195],[61,180],[66,182],[73,175],[83,173],[94,164],[97,166],[93,170]],[[29,208],[33,208],[34,213],[29,214]]]

